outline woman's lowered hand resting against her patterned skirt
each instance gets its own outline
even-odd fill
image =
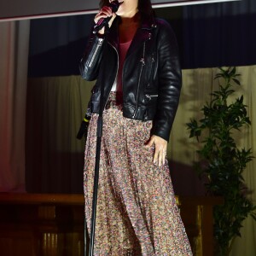
[[[158,166],[163,166],[166,160],[166,149],[167,141],[162,137],[152,135],[146,147],[152,147],[154,144],[154,164]]]

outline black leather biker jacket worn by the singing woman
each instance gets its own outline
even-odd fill
[[[118,73],[119,17],[107,35],[92,35],[80,63],[82,77],[95,80],[91,113],[99,113],[100,86],[104,106]],[[143,20],[128,49],[123,67],[123,115],[129,119],[153,120],[152,134],[169,140],[181,89],[177,41],[165,20]]]

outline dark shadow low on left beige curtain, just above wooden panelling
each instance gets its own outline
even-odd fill
[[[26,192],[83,193],[84,153],[53,152],[26,159]]]

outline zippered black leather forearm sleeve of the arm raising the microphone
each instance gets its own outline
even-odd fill
[[[83,79],[92,81],[97,78],[102,60],[104,42],[104,36],[91,35],[84,52],[84,57],[79,63],[79,70]]]

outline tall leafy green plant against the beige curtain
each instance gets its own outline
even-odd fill
[[[200,176],[207,177],[206,189],[210,195],[223,196],[224,204],[214,207],[214,237],[217,254],[229,255],[232,241],[241,236],[242,222],[248,215],[256,220],[255,207],[247,197],[247,187],[242,177],[247,163],[253,160],[251,149],[239,148],[234,131],[251,125],[243,96],[228,103],[228,98],[241,85],[236,67],[219,68],[218,90],[211,93],[201,112],[203,118],[192,119],[187,127],[189,137],[196,137],[201,149],[197,150],[200,161],[195,163]]]

